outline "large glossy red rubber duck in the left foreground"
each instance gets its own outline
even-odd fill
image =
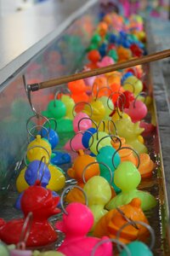
[[[24,218],[12,219],[7,223],[0,219],[0,240],[7,244],[18,244],[23,224],[29,212],[32,212],[31,230],[26,247],[41,247],[57,240],[57,233],[49,224],[48,218],[60,212],[56,205],[59,197],[53,197],[52,191],[35,184],[25,190],[21,199]],[[28,224],[29,225],[29,224]]]

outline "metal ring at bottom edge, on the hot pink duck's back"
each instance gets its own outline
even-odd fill
[[[123,247],[125,249],[126,253],[127,253],[127,256],[132,255],[129,248],[122,241],[116,240],[114,238],[105,238],[105,240],[102,239],[98,243],[95,244],[95,246],[92,250],[91,256],[95,256],[95,253],[96,253],[98,247],[100,247],[102,244],[104,244],[108,241],[112,241],[112,242],[116,243],[117,246],[119,245],[119,247]]]

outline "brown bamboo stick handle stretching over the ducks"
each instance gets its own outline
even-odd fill
[[[82,73],[75,73],[69,76],[65,76],[59,79],[51,79],[48,81],[44,81],[38,84],[28,84],[28,90],[40,90],[40,89],[44,89],[44,88],[49,88],[49,87],[53,87],[59,84],[67,84],[71,81],[75,81],[75,80],[79,80],[79,79],[87,79],[89,77],[93,77],[93,76],[97,76],[100,74],[104,74],[104,73],[110,73],[116,70],[121,70],[123,68],[127,68],[127,67],[133,67],[133,66],[137,66],[137,65],[142,65],[144,63],[149,63],[151,61],[158,61],[164,58],[167,58],[170,56],[170,49],[165,49],[162,50],[160,52],[156,52],[154,54],[150,54],[150,55],[145,55],[142,56],[140,58],[135,58],[129,61],[124,61],[121,63],[116,63],[114,65],[110,65],[107,67],[100,67],[97,69],[93,69],[87,72],[82,72]]]

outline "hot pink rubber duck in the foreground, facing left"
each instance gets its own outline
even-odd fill
[[[93,236],[87,236],[94,224],[93,213],[87,206],[73,202],[65,210],[67,214],[64,213],[63,220],[56,223],[57,230],[65,233],[65,241],[58,248],[58,251],[67,256],[91,256],[94,246],[99,241],[105,240],[108,237],[104,236],[99,239]],[[111,256],[111,241],[99,246],[95,255]]]

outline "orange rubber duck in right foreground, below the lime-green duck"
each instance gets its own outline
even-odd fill
[[[95,225],[93,234],[97,237],[109,236],[111,238],[116,238],[117,231],[120,230],[124,224],[127,224],[128,220],[131,220],[132,222],[142,221],[148,224],[148,220],[141,209],[141,201],[139,198],[134,198],[127,205],[106,213]],[[137,228],[133,225],[128,225],[122,230],[119,240],[123,243],[129,243],[130,241],[141,238],[144,240],[144,236],[147,235],[148,230],[143,225],[137,224]]]

